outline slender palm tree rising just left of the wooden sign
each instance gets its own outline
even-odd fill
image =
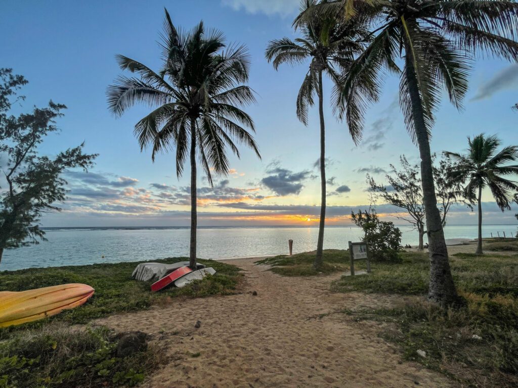
[[[306,12],[316,4],[316,0],[306,0],[301,12]],[[294,41],[289,38],[271,40],[266,49],[266,59],[272,62],[277,70],[282,63],[296,65],[310,59],[309,69],[297,96],[297,117],[308,124],[308,107],[313,106],[314,94],[319,99],[320,115],[320,179],[321,207],[319,236],[316,243],[314,267],[322,265],[324,245],[324,225],[326,208],[325,177],[325,122],[322,76],[325,72],[334,83],[334,94],[340,93],[340,79],[349,69],[354,55],[361,52],[365,26],[361,23],[344,22],[332,16],[311,18],[298,26],[302,37]],[[352,133],[357,140],[356,133]]]

